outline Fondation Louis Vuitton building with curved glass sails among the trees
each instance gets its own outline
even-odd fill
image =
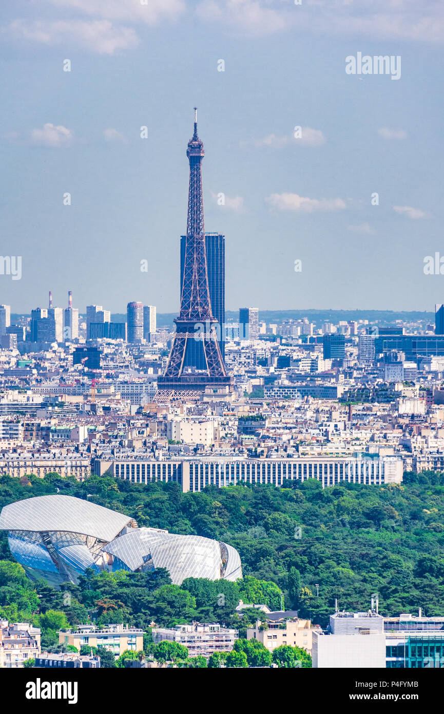
[[[136,521],[73,496],[37,496],[4,506],[0,530],[32,580],[76,583],[86,568],[146,572],[166,568],[171,581],[237,580],[238,551],[200,535],[138,528]]]

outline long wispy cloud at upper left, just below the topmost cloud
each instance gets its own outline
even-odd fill
[[[113,54],[116,49],[126,49],[138,44],[138,37],[133,29],[113,26],[109,20],[50,22],[14,20],[2,31],[16,39],[47,45],[66,45],[66,42],[74,41],[99,54]]]

